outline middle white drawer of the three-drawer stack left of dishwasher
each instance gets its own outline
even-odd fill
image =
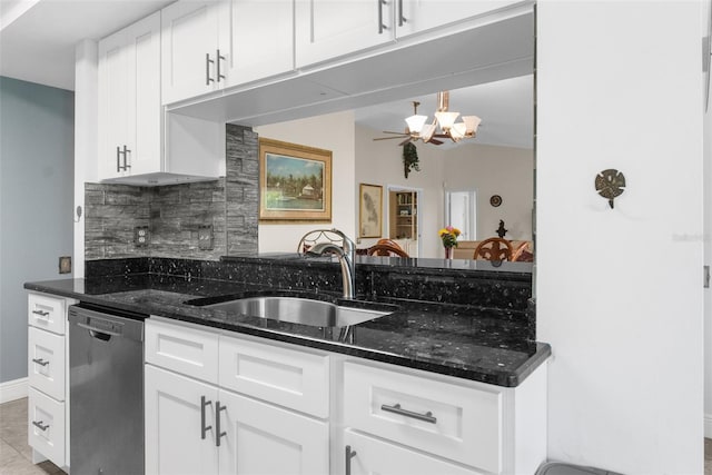
[[[65,400],[65,337],[28,328],[30,386],[57,400]]]

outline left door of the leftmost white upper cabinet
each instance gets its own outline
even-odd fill
[[[99,42],[99,178],[126,175],[119,150],[128,148],[128,51],[121,30]]]

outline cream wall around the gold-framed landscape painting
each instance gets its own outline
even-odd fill
[[[255,127],[259,137],[332,150],[332,222],[259,224],[259,251],[296,251],[313,229],[337,228],[356,236],[354,191],[355,139],[353,111]]]

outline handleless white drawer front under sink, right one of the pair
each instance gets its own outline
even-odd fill
[[[222,335],[220,386],[317,417],[329,415],[326,354]]]

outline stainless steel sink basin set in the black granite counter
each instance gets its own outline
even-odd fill
[[[240,314],[313,327],[346,327],[392,313],[346,307],[329,301],[280,296],[240,298],[206,305],[205,307],[224,310],[229,314]]]

